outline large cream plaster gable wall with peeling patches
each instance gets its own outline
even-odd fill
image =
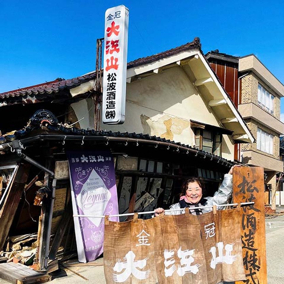
[[[211,108],[177,66],[127,84],[125,123],[101,123],[100,129],[149,133],[193,146],[190,120],[219,126]],[[234,145],[227,135],[222,144],[222,156],[233,160]]]

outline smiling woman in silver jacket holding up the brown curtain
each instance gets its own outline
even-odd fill
[[[197,178],[188,179],[182,186],[180,201],[178,203],[172,204],[172,206],[170,206],[170,209],[180,209],[180,208],[189,207],[189,212],[191,214],[200,215],[212,211],[212,208],[202,208],[202,206],[226,204],[232,195],[232,190],[233,190],[232,174],[234,167],[241,167],[241,166],[234,165],[233,167],[231,167],[230,171],[224,176],[222,184],[220,185],[218,191],[215,192],[213,197],[209,196],[202,198],[202,187],[200,181]],[[196,208],[196,207],[201,207],[201,208]],[[223,209],[223,208],[219,207],[218,209]],[[155,216],[158,216],[159,214],[165,214],[165,210],[163,208],[157,208],[154,211],[155,211]],[[166,212],[166,214],[178,215],[178,214],[183,214],[184,212],[185,210],[171,211],[171,212]]]

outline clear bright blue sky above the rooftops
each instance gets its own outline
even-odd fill
[[[284,82],[283,1],[11,0],[0,9],[0,93],[94,70],[105,10],[121,4],[130,10],[128,61],[198,36],[204,53],[254,53]]]

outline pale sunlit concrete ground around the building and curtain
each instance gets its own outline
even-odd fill
[[[284,208],[277,208],[277,212]],[[284,283],[284,216],[266,218],[266,254],[268,284]],[[96,260],[97,266],[72,266],[65,268],[59,275],[53,275],[51,284],[106,284],[103,259]],[[77,273],[77,274],[76,274]],[[67,277],[66,277],[67,276]],[[0,279],[0,284],[9,284]]]

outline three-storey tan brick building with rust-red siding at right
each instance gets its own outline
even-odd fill
[[[205,56],[256,138],[256,143],[235,145],[235,159],[264,168],[266,190],[271,192],[266,202],[275,209],[277,173],[283,172],[279,143],[284,86],[254,54],[236,57],[215,50]]]

